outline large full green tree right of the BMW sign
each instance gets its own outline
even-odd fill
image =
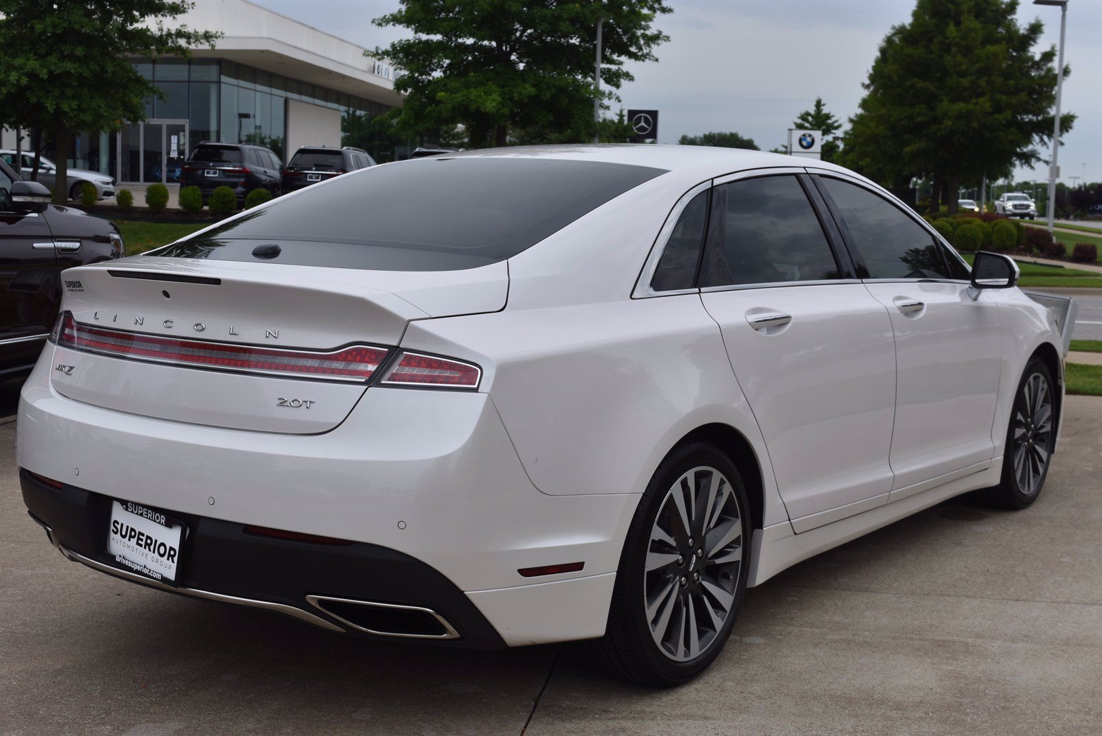
[[[842,163],[888,186],[932,177],[931,209],[944,199],[955,212],[962,181],[1040,161],[1038,145],[1052,136],[1056,51],[1034,54],[1044,26],[1019,26],[1017,6],[918,0],[910,22],[880,44]],[[1073,121],[1061,116],[1061,132]]]

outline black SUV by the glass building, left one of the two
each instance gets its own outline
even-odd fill
[[[237,195],[237,204],[241,205],[253,190],[268,190],[278,197],[283,191],[280,167],[279,156],[263,145],[204,141],[184,162],[180,186],[199,187],[204,204],[216,188],[228,186]]]

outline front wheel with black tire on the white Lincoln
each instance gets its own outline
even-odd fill
[[[1041,387],[1045,397],[1038,396]],[[1047,407],[1047,410],[1040,410],[1040,405]],[[1052,459],[1056,425],[1052,374],[1040,358],[1030,358],[1014,393],[1003,451],[1003,475],[998,485],[991,489],[996,506],[1024,509],[1040,496]]]

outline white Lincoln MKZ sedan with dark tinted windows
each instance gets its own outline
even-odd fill
[[[18,426],[63,555],[337,632],[588,639],[651,684],[789,565],[1028,506],[1059,429],[1013,261],[770,153],[386,164],[63,279]]]

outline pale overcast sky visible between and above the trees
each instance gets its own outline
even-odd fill
[[[398,0],[253,0],[367,48],[404,35],[374,18]],[[907,22],[914,0],[669,0],[658,19],[670,41],[659,61],[631,65],[636,80],[619,95],[625,108],[659,110],[659,142],[683,133],[737,131],[763,150],[784,145],[800,111],[822,97],[843,121],[857,110],[861,84],[890,28]],[[1028,0],[1018,21],[1045,22],[1039,47],[1055,45],[1060,10]],[[1079,116],[1065,137],[1061,178],[1102,180],[1102,0],[1070,0],[1065,111]],[[618,106],[616,106],[618,107]],[[616,109],[614,107],[614,109]],[[1047,158],[1047,154],[1046,154]],[[1018,178],[1047,177],[1044,165]]]

